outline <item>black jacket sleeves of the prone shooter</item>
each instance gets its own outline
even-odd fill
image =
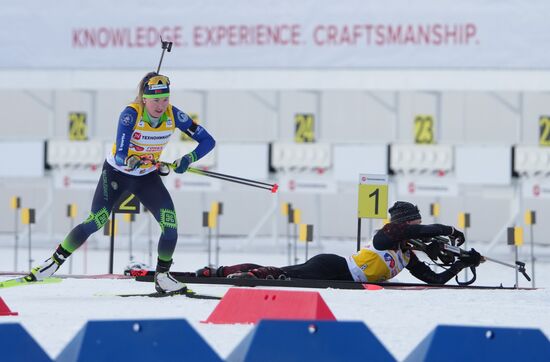
[[[377,250],[402,250],[406,248],[409,239],[424,239],[434,236],[448,236],[453,232],[451,226],[442,224],[431,225],[410,225],[405,223],[389,223],[374,235],[373,246]],[[420,261],[413,250],[410,253],[410,260],[406,268],[416,278],[428,284],[445,284],[452,277],[457,275],[467,265],[458,260],[449,269],[435,273],[424,262]]]

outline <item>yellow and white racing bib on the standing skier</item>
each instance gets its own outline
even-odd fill
[[[137,112],[137,119],[134,125],[134,130],[130,137],[130,145],[128,147],[128,157],[137,155],[139,157],[147,156],[151,161],[158,161],[160,155],[164,150],[164,147],[168,144],[170,136],[174,133],[176,128],[176,122],[174,121],[174,113],[172,111],[172,105],[168,105],[166,109],[166,121],[162,122],[157,128],[153,128],[149,123],[143,120],[143,104],[132,103],[128,105]],[[156,169],[153,162],[148,162],[135,170],[130,170],[126,166],[119,166],[114,160],[116,154],[116,143],[113,144],[110,157],[107,158],[107,162],[114,168],[129,174],[129,175],[145,175]]]

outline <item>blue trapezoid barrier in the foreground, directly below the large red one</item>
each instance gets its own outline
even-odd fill
[[[395,361],[363,322],[262,320],[227,357],[241,361]]]

